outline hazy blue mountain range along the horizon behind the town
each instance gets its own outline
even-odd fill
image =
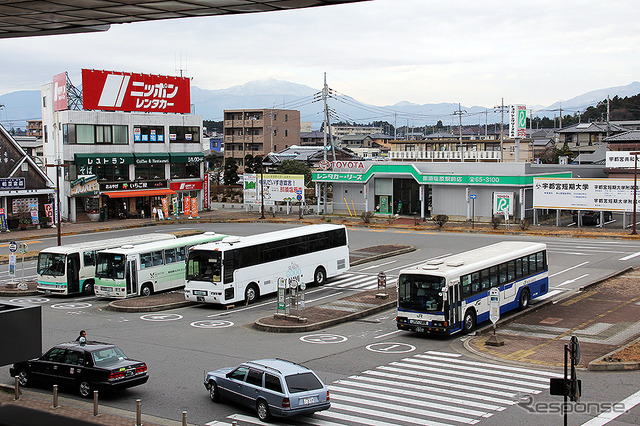
[[[205,120],[221,121],[225,109],[248,108],[276,108],[295,109],[300,111],[303,122],[311,122],[314,130],[319,129],[323,117],[322,102],[317,101],[320,90],[302,84],[288,81],[266,79],[254,80],[246,84],[229,87],[227,89],[205,90],[196,86],[191,87],[192,112],[202,115]],[[640,82],[634,81],[626,86],[610,87],[594,90],[574,98],[556,102],[549,106],[535,105],[534,116],[549,117],[560,113],[573,114],[584,111],[589,106],[595,106],[607,96],[627,97],[640,93]],[[24,128],[26,120],[36,120],[42,116],[40,110],[40,91],[22,90],[0,95],[0,124],[6,128]],[[444,125],[457,125],[457,103],[415,104],[398,102],[394,105],[374,106],[361,103],[346,95],[332,95],[328,100],[332,111],[332,122],[349,121],[356,123],[370,123],[372,121],[387,121],[398,127],[423,126],[436,124],[442,120]],[[489,124],[499,123],[501,120],[499,108],[484,106],[461,106],[462,123],[465,125],[481,124],[485,120]],[[505,122],[507,117],[505,115]]]

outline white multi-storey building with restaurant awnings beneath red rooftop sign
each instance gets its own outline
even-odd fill
[[[85,71],[83,91],[86,95],[93,83],[85,81]],[[188,79],[181,77],[94,73],[116,78],[128,76],[140,84],[146,84],[146,79],[161,78],[171,87],[175,85],[176,90],[180,85],[182,91],[188,92],[188,86],[184,86],[188,85]],[[194,199],[197,207],[207,207],[203,205],[201,116],[71,110],[67,109],[68,103],[63,109],[54,110],[53,86],[48,83],[41,89],[43,127],[47,129],[44,158],[48,166],[61,166],[47,167],[49,176],[55,176],[58,168],[64,170],[63,218],[75,222],[79,218],[96,218],[98,212],[102,219],[150,217],[153,207],[161,207],[163,202],[177,215],[185,210],[185,197],[189,197],[190,204],[186,207],[195,207]],[[129,90],[131,87],[123,96],[130,96]],[[188,93],[186,96],[186,102],[178,96],[172,100],[186,103],[183,110],[189,111]],[[84,106],[87,107],[86,99]]]

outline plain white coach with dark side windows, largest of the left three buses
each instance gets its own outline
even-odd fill
[[[229,304],[274,293],[278,280],[324,284],[349,269],[344,225],[309,225],[193,247],[185,298]]]

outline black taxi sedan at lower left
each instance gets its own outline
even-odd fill
[[[39,358],[13,364],[9,374],[20,386],[57,384],[85,398],[94,390],[116,391],[149,380],[147,364],[127,358],[116,345],[91,341],[56,345]]]

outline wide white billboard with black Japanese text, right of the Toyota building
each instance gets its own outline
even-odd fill
[[[633,212],[633,179],[534,178],[533,207]]]

